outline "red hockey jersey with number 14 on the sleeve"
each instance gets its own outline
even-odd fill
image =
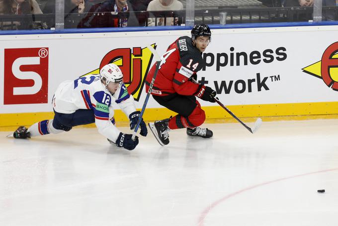
[[[189,80],[203,67],[202,53],[192,44],[192,39],[182,36],[169,45],[167,52],[161,57],[161,64],[152,90],[152,95],[167,96],[195,95],[199,84]],[[153,79],[156,64],[150,69],[146,78],[146,92]]]

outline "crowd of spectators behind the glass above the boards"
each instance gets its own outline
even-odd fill
[[[319,2],[321,21],[338,20],[338,0]],[[195,0],[192,14],[195,21],[210,24],[220,23],[221,11],[227,11],[227,23],[309,21],[317,3],[233,0],[230,4],[221,0],[215,5],[213,0]],[[191,0],[0,0],[0,30],[177,26],[191,14],[187,8]]]

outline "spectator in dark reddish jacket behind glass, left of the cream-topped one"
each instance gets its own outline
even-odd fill
[[[106,0],[91,6],[78,27],[126,27],[127,17],[112,15],[126,11],[129,11],[126,0]]]

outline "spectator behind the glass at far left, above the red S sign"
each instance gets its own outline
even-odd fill
[[[1,14],[8,15],[35,15],[42,14],[39,4],[36,0],[2,0],[4,8],[1,9]],[[9,29],[46,29],[47,24],[45,22],[36,21],[32,16],[30,19],[25,18],[22,21],[4,22],[3,25],[10,23]],[[14,25],[15,24],[15,25]],[[2,27],[1,27],[2,29]]]

